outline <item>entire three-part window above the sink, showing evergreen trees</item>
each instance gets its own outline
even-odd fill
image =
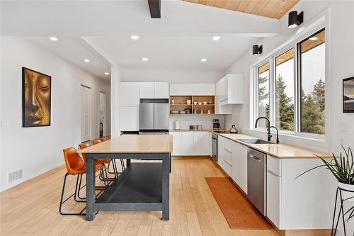
[[[325,29],[275,53],[255,72],[254,120],[265,116],[283,133],[324,137],[318,135],[325,134]],[[260,128],[266,125],[259,120]]]

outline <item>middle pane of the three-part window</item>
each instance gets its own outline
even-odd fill
[[[275,126],[295,130],[294,48],[275,57]]]

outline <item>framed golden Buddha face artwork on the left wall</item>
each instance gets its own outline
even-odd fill
[[[52,77],[22,67],[22,126],[50,126]]]

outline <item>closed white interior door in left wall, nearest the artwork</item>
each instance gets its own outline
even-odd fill
[[[81,85],[81,142],[91,140],[91,89]]]

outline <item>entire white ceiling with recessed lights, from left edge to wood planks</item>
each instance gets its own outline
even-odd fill
[[[221,71],[251,53],[259,37],[280,33],[275,19],[177,0],[161,0],[161,18],[154,19],[147,0],[0,3],[1,35],[30,37],[101,78],[110,64]],[[131,40],[132,34],[139,40]],[[59,40],[51,42],[51,35]],[[213,41],[213,35],[221,39]],[[86,57],[91,62],[84,63]],[[200,62],[202,57],[207,62]]]

